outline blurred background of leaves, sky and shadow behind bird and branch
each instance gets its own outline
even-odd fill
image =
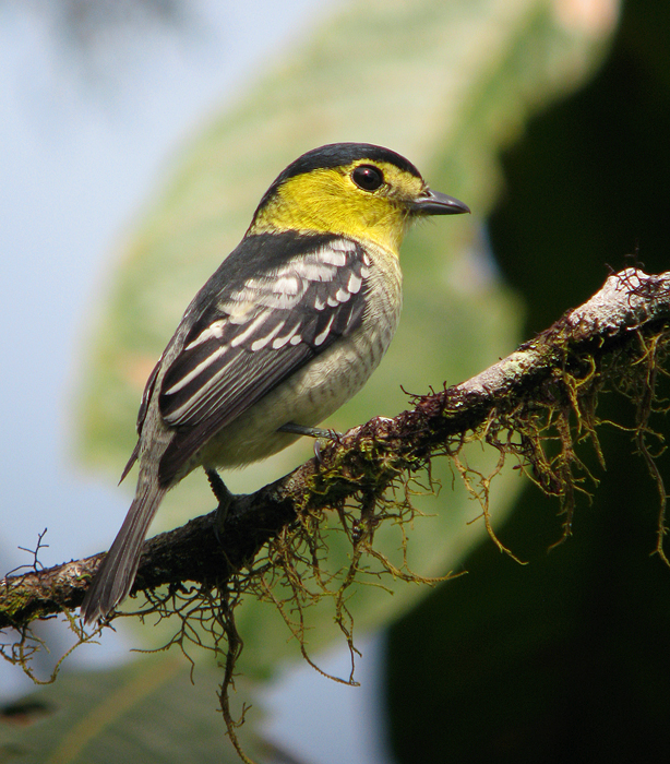
[[[667,270],[669,35],[670,7],[651,0],[0,0],[2,572],[33,563],[22,548],[45,528],[44,565],[109,546],[155,359],[263,191],[309,148],[387,145],[474,212],[408,237],[400,330],[337,429],[405,408],[400,385],[424,393],[480,371],[598,289],[608,265],[635,255]],[[623,399],[601,404],[630,423]],[[435,463],[436,496],[416,486],[426,516],[409,563],[468,574],[356,592],[361,687],[301,664],[277,614],[246,601],[236,701],[253,702],[249,752],[666,761],[658,499],[630,434],[601,440],[595,500],[550,553],[558,504],[511,469],[493,482],[494,527],[525,566]],[[224,477],[253,490],[310,453],[298,444]],[[487,470],[495,455],[468,459]],[[213,509],[201,475],[166,504],[155,530]],[[397,528],[379,544],[397,558]],[[330,558],[346,563],[337,534]],[[348,677],[332,609],[311,618],[313,657]],[[0,666],[0,762],[237,761],[211,658],[193,655],[191,684],[176,650],[130,652],[163,644],[169,624],[118,623],[44,690]],[[39,634],[46,678],[73,640],[62,624]]]

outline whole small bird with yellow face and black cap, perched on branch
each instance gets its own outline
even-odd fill
[[[335,143],[272,183],[240,244],[188,307],[137,416],[135,498],[82,605],[105,618],[133,584],[166,492],[199,466],[265,458],[357,393],[395,333],[409,225],[469,212],[399,154]],[[225,488],[224,488],[225,490]]]

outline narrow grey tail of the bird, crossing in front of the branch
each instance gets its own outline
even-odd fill
[[[137,492],[123,525],[84,597],[81,614],[85,623],[105,618],[128,596],[140,564],[142,544],[166,490],[157,479],[140,475]]]

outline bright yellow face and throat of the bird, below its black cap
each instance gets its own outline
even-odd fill
[[[249,234],[336,234],[371,240],[397,254],[411,222],[410,204],[426,190],[421,178],[386,162],[361,158],[319,168],[284,181]]]

